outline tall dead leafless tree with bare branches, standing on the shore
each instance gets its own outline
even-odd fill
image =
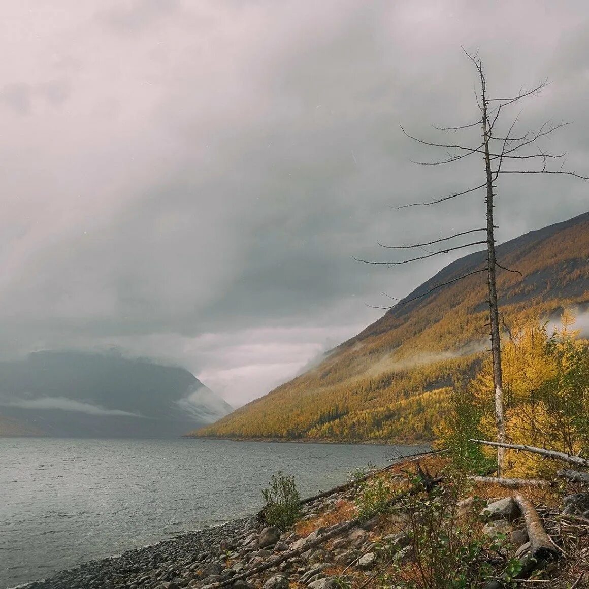
[[[575,178],[581,178],[583,180],[589,180],[588,177],[581,176],[577,174],[575,171],[564,170],[564,161],[566,154],[565,153],[558,153],[554,154],[550,151],[545,150],[541,146],[541,140],[543,138],[547,138],[552,135],[555,131],[560,130],[561,128],[567,126],[569,123],[558,123],[554,124],[550,120],[545,122],[541,125],[540,128],[537,130],[529,130],[524,134],[516,133],[515,128],[517,125],[518,117],[511,119],[511,125],[507,127],[507,132],[501,133],[497,131],[499,124],[502,122],[502,115],[507,112],[508,107],[516,104],[517,102],[523,100],[524,98],[528,98],[531,96],[538,95],[543,88],[547,85],[547,81],[541,82],[531,90],[522,90],[517,95],[508,97],[508,98],[489,98],[487,92],[487,78],[485,77],[485,72],[482,67],[482,60],[478,55],[471,55],[466,52],[464,49],[463,51],[466,54],[466,57],[470,59],[472,64],[474,64],[475,68],[477,69],[478,74],[478,82],[480,84],[480,95],[475,94],[475,98],[477,99],[477,106],[479,111],[479,118],[478,120],[474,121],[473,123],[468,123],[462,125],[460,127],[434,127],[436,131],[441,131],[442,133],[448,132],[456,132],[456,131],[465,131],[474,128],[480,128],[481,133],[481,140],[479,140],[478,144],[475,145],[464,145],[459,142],[455,143],[438,143],[434,141],[426,141],[421,138],[415,137],[414,135],[410,135],[401,127],[403,133],[413,141],[416,141],[420,144],[427,145],[429,147],[436,147],[436,148],[444,148],[445,150],[449,150],[446,152],[446,157],[431,162],[414,162],[420,164],[422,166],[442,166],[444,164],[452,164],[459,160],[464,160],[465,158],[471,157],[472,155],[479,154],[482,156],[482,160],[484,161],[484,170],[485,170],[485,178],[484,182],[478,184],[478,186],[474,186],[468,188],[464,191],[459,193],[449,194],[448,196],[436,198],[435,200],[431,201],[424,201],[418,203],[411,203],[405,204],[400,207],[393,207],[396,209],[405,209],[407,207],[415,207],[415,206],[432,206],[436,204],[445,203],[453,198],[458,198],[461,196],[465,196],[467,194],[475,193],[478,190],[485,190],[485,205],[486,205],[486,225],[485,227],[479,227],[477,229],[471,229],[468,231],[461,231],[459,233],[455,233],[454,235],[448,237],[442,237],[441,239],[436,239],[433,241],[427,241],[425,243],[416,243],[411,246],[385,246],[383,244],[379,244],[382,247],[387,249],[412,249],[412,248],[425,248],[426,246],[431,246],[434,244],[442,243],[442,241],[449,241],[455,239],[456,237],[461,237],[466,234],[477,233],[479,231],[484,231],[486,233],[486,239],[481,239],[477,241],[470,241],[469,243],[465,243],[459,246],[452,246],[452,247],[444,247],[444,249],[436,250],[431,252],[429,250],[425,250],[426,253],[421,256],[412,257],[408,260],[403,260],[401,262],[371,262],[369,260],[359,260],[360,262],[365,262],[369,264],[385,264],[386,266],[393,267],[398,266],[399,264],[407,264],[410,262],[416,262],[417,260],[424,260],[432,256],[438,256],[439,254],[445,254],[449,252],[454,252],[455,250],[460,250],[465,247],[474,246],[477,244],[487,244],[487,264],[486,267],[474,270],[473,272],[469,272],[464,274],[463,276],[459,276],[449,282],[436,284],[434,287],[428,290],[428,292],[419,294],[416,297],[409,298],[409,299],[395,299],[398,300],[399,303],[408,303],[412,300],[421,298],[426,296],[427,294],[433,292],[436,289],[444,287],[448,284],[457,282],[458,280],[462,280],[467,276],[472,276],[472,274],[482,273],[485,272],[487,274],[487,284],[488,284],[488,305],[489,305],[489,323],[488,326],[490,327],[490,336],[491,336],[491,355],[492,355],[492,366],[493,366],[493,380],[494,380],[494,399],[495,399],[495,422],[497,425],[497,442],[499,444],[505,444],[507,442],[507,438],[505,435],[505,416],[504,416],[504,395],[503,395],[503,388],[502,388],[502,370],[501,370],[501,331],[499,329],[499,309],[497,304],[497,282],[495,279],[495,273],[497,268],[508,270],[509,272],[517,272],[517,270],[511,270],[504,266],[502,266],[499,262],[497,262],[497,257],[495,256],[495,229],[497,226],[494,224],[493,219],[493,209],[494,209],[494,197],[496,195],[495,188],[497,184],[498,178],[502,174],[560,174],[565,176],[573,176]],[[532,152],[532,150],[534,150]],[[539,169],[518,169],[518,168],[509,168],[509,163],[518,163],[521,164],[524,160],[531,160],[531,161],[538,161],[541,165]],[[559,168],[554,168],[551,164],[558,162],[561,163]],[[509,169],[506,169],[509,168]],[[388,295],[387,295],[388,296]],[[394,299],[394,297],[391,297]],[[399,304],[398,303],[398,304]],[[390,309],[391,307],[377,307],[382,309]],[[505,448],[499,446],[497,451],[497,475],[498,477],[502,476],[502,472],[504,471],[504,452]]]

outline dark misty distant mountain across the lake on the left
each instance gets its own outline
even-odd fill
[[[230,411],[188,370],[150,360],[35,352],[0,362],[0,435],[169,438]]]

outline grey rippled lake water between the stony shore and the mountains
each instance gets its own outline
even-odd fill
[[[274,472],[301,494],[415,447],[0,438],[0,587],[252,514]]]

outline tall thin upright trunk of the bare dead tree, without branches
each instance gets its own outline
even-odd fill
[[[497,307],[497,284],[495,283],[495,235],[493,226],[493,177],[491,170],[491,155],[489,153],[489,119],[487,112],[487,94],[482,63],[479,59],[479,73],[481,74],[482,95],[482,134],[485,151],[485,172],[487,173],[487,283],[489,286],[489,317],[491,324],[491,353],[493,358],[493,384],[495,386],[495,423],[497,423],[497,441],[505,442],[505,418],[503,411],[503,389],[501,371],[501,335],[499,333],[499,309]],[[505,449],[497,449],[497,476],[504,472]]]

